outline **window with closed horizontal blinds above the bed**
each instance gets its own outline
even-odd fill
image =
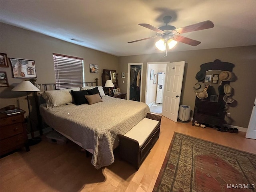
[[[83,86],[84,59],[72,56],[53,54],[56,89]]]

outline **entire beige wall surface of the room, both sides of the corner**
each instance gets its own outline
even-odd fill
[[[230,106],[228,112],[231,113],[231,120],[228,124],[234,126],[248,126],[254,99],[256,96],[256,46],[244,46],[233,48],[220,48],[209,50],[195,50],[184,52],[168,52],[168,56],[160,54],[148,54],[137,56],[116,57],[110,54],[85,48],[72,43],[68,43],[56,38],[51,38],[36,32],[24,30],[0,23],[1,52],[6,53],[10,58],[24,58],[35,60],[38,83],[55,82],[52,53],[66,54],[84,58],[84,72],[86,81],[94,81],[99,78],[101,85],[101,73],[103,69],[117,70],[119,74],[126,72],[126,78],[119,75],[119,87],[122,92],[127,90],[127,70],[128,63],[144,63],[142,79],[142,101],[145,98],[146,66],[147,62],[176,62],[185,61],[184,80],[181,95],[181,104],[188,105],[194,110],[195,93],[193,86],[197,82],[195,75],[200,70],[200,65],[206,62],[213,62],[220,59],[235,65],[233,72],[238,80],[230,83],[234,88],[234,98],[236,106]],[[92,74],[89,71],[89,64],[98,64],[99,73]],[[7,73],[10,87],[0,88],[1,108],[10,104],[18,105],[28,111],[26,93],[10,91],[16,84],[25,79],[12,78],[12,70],[1,68]],[[122,83],[122,81],[125,83]]]

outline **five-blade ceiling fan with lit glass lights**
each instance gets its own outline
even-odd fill
[[[200,41],[196,41],[196,40],[181,36],[180,34],[209,29],[214,27],[214,24],[208,20],[208,21],[203,21],[200,23],[196,23],[196,24],[192,24],[186,27],[176,29],[176,27],[168,25],[171,19],[172,19],[171,16],[165,16],[163,20],[166,25],[160,28],[156,28],[147,23],[140,23],[139,24],[140,26],[143,26],[150,30],[155,31],[156,36],[139,39],[139,40],[131,41],[128,43],[134,43],[142,40],[162,37],[158,42],[156,42],[156,47],[162,51],[167,50],[167,45],[169,46],[169,48],[173,48],[177,44],[177,42],[182,42],[188,45],[197,46],[201,43]]]

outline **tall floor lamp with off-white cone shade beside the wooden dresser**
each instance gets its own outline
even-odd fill
[[[12,89],[12,91],[26,91],[27,92],[27,100],[28,100],[28,94],[29,92],[35,92],[35,91],[40,91],[36,86],[34,86],[30,81],[22,81],[19,83],[16,87]],[[30,134],[32,137],[32,141],[29,140],[28,143],[29,145],[34,145],[37,144],[41,141],[41,138],[35,138],[34,137],[34,132],[32,132],[32,121],[31,121],[31,116],[30,116],[30,104],[28,100],[28,114],[29,114],[29,123],[30,123]]]

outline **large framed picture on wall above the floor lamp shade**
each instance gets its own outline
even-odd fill
[[[35,61],[9,58],[13,78],[36,78]]]

